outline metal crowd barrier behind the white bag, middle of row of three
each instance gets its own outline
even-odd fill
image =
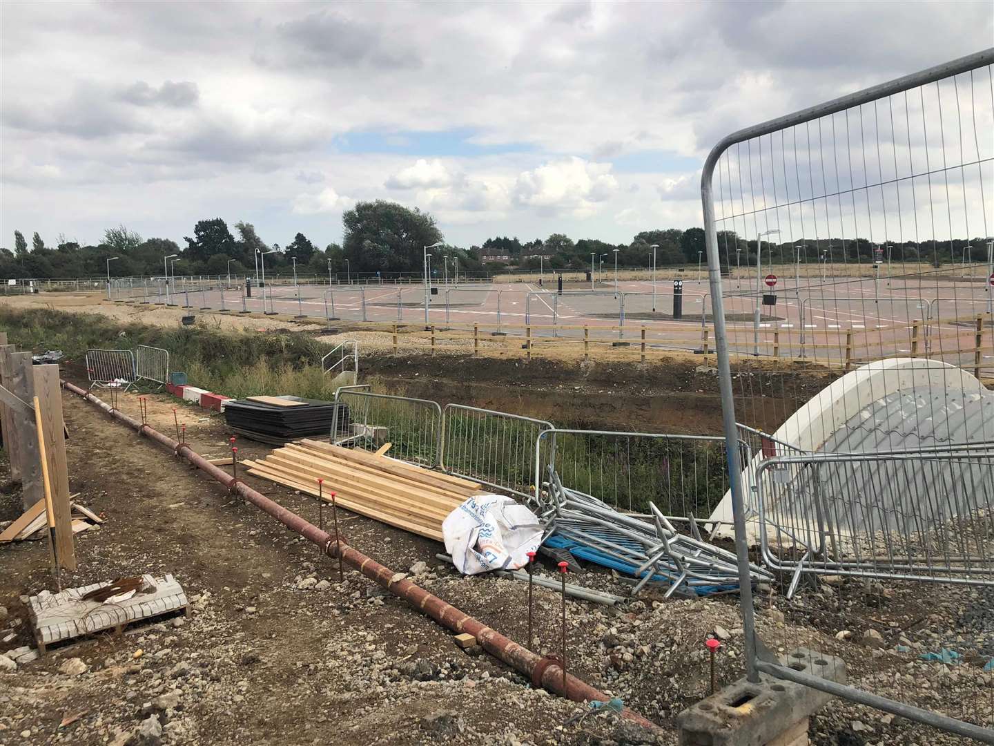
[[[532,475],[546,459],[548,448],[543,441],[537,454],[535,445],[540,433],[553,428],[552,423],[461,404],[445,405],[442,422],[441,466],[445,470],[531,496]]]

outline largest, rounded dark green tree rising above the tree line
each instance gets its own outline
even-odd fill
[[[396,202],[360,202],[342,216],[353,272],[420,272],[423,247],[442,240],[434,218]]]

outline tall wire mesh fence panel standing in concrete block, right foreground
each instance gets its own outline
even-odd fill
[[[928,457],[921,451],[929,440],[989,440],[992,426],[981,416],[986,395],[977,378],[991,374],[984,356],[994,355],[988,351],[994,349],[994,325],[991,319],[978,317],[972,328],[944,329],[943,346],[936,354],[935,327],[928,321],[926,351],[920,322],[928,316],[918,306],[921,301],[911,298],[979,296],[974,292],[979,283],[966,278],[963,268],[948,269],[957,261],[966,265],[961,260],[964,250],[994,229],[992,64],[994,50],[986,50],[745,128],[723,138],[705,162],[701,186],[706,257],[727,456],[733,471],[731,512],[743,578],[749,533],[746,484],[742,471],[734,466],[734,457],[741,456],[737,421],[770,431],[802,451],[825,454],[781,459],[788,466],[779,468],[768,461],[757,466],[757,481],[765,479],[759,495],[767,559],[789,563],[807,555],[803,566],[811,567],[814,558],[837,567],[845,587],[847,573],[872,574],[892,582],[911,577],[975,578],[976,568],[989,557],[989,548],[988,554],[977,555],[976,542],[963,535],[964,530],[981,530],[971,512],[981,509],[979,498],[970,502],[972,493],[962,483],[940,484],[958,475],[979,488],[986,484],[989,495],[989,466],[968,460],[966,468],[961,461]],[[755,280],[749,293],[730,294],[726,302],[723,266],[737,266],[740,258]],[[902,261],[897,271],[895,260]],[[770,278],[763,287],[762,279],[776,274],[768,269],[771,261],[780,277]],[[773,302],[764,303],[764,294],[775,295],[768,298]],[[825,296],[844,300],[826,308],[818,302]],[[821,311],[815,312],[815,307]],[[759,310],[766,317],[763,323],[779,326],[757,328],[754,314]],[[749,311],[752,323],[736,315]],[[822,330],[814,326],[821,323],[838,324],[838,329],[825,330],[837,338],[822,342],[818,338]],[[740,359],[733,380],[730,353],[754,351],[749,343],[754,344],[761,332],[767,349],[772,336],[773,349],[787,349],[789,357],[800,357],[793,352],[801,346],[801,330],[804,365],[778,367],[768,361],[750,365]],[[966,410],[959,411],[955,402],[966,402]],[[854,449],[857,442],[860,447]],[[919,453],[880,455],[902,449]],[[833,451],[857,450],[873,456],[830,456]],[[817,461],[820,458],[838,461],[826,466]],[[929,483],[937,494],[919,496],[920,502],[915,502],[926,473],[932,474]],[[856,485],[866,491],[866,501],[860,501]],[[904,490],[898,492],[902,486]],[[942,503],[939,512],[936,497],[967,502]],[[813,510],[814,518],[800,520],[801,506],[804,515]],[[848,515],[846,508],[852,511]],[[905,515],[905,510],[911,513]],[[857,526],[863,530],[854,539]],[[958,546],[953,543],[957,541]],[[773,551],[788,543],[789,555]],[[796,587],[794,583],[783,591],[792,594]],[[740,601],[750,681],[758,681],[760,671],[803,679],[805,685],[904,718],[994,739],[994,733],[978,724],[976,708],[947,710],[962,718],[957,720],[760,660],[754,606],[745,583]],[[808,618],[818,614],[804,608],[802,601],[789,603]],[[869,628],[879,625],[873,618],[886,616],[881,609],[879,600],[871,607],[861,599],[848,614],[863,615],[855,623]],[[786,643],[781,638],[773,647]],[[931,704],[916,695],[909,692],[921,704]],[[895,727],[904,726],[899,721]]]

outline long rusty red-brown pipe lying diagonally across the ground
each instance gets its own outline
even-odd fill
[[[459,611],[454,606],[446,604],[437,596],[434,596],[425,591],[423,588],[414,585],[414,583],[407,578],[399,577],[403,576],[403,574],[395,573],[389,567],[385,567],[376,560],[367,557],[365,554],[357,551],[344,541],[339,541],[338,547],[336,547],[335,536],[322,531],[320,528],[307,522],[296,513],[287,510],[285,507],[273,502],[260,492],[255,491],[244,481],[241,481],[240,479],[232,476],[230,473],[214,466],[197,454],[188,445],[178,443],[177,441],[174,441],[152,429],[150,426],[143,425],[142,423],[128,417],[123,412],[110,407],[108,404],[100,401],[92,394],[81,389],[79,386],[75,386],[68,381],[63,381],[63,386],[67,391],[71,391],[72,393],[83,397],[83,399],[92,402],[111,417],[120,420],[125,425],[130,426],[136,430],[139,435],[144,435],[154,441],[157,441],[177,456],[183,457],[190,462],[190,464],[197,466],[202,471],[210,474],[228,487],[228,490],[232,494],[237,494],[245,498],[259,510],[268,513],[287,528],[296,531],[308,541],[321,547],[321,550],[329,556],[341,556],[342,562],[359,571],[370,580],[375,581],[378,585],[387,589],[395,596],[404,599],[409,604],[414,606],[415,609],[431,617],[431,619],[435,622],[438,622],[440,625],[452,630],[453,632],[468,633],[469,635],[472,635],[476,638],[476,642],[480,645],[480,647],[487,653],[491,653],[495,657],[500,658],[508,665],[511,665],[521,673],[524,673],[526,676],[534,677],[536,668],[539,666],[540,661],[543,661],[543,658],[539,655],[523,648],[495,630],[491,630],[479,620],[476,620],[468,614]],[[397,579],[395,580],[395,578]],[[540,683],[550,691],[562,694],[563,696],[578,702],[592,700],[607,701],[610,699],[609,696],[601,691],[598,691],[597,689],[594,689],[589,684],[580,681],[579,678],[571,673],[567,673],[564,677],[563,669],[557,662],[543,661],[543,666]],[[566,684],[565,687],[564,678]],[[658,730],[657,725],[649,720],[646,720],[641,715],[632,712],[627,707],[621,711],[621,716],[638,723],[645,728]]]

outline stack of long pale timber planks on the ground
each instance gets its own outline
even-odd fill
[[[304,440],[276,449],[264,459],[245,462],[248,473],[335,501],[353,512],[397,528],[442,541],[441,522],[467,497],[486,490],[474,481],[420,466]]]

